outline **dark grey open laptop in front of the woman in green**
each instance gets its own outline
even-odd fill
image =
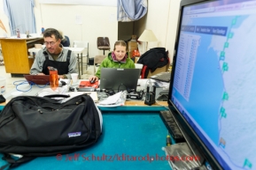
[[[101,90],[136,90],[140,69],[102,68],[99,87]]]

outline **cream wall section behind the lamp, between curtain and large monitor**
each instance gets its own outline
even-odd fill
[[[138,37],[144,29],[151,29],[159,40],[158,44],[149,42],[148,48],[163,47],[169,51],[172,63],[178,12],[181,0],[148,0],[148,13],[136,21]]]

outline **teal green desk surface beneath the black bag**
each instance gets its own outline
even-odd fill
[[[162,148],[167,128],[159,112],[103,111],[103,133],[88,149],[38,157],[14,169],[171,169]],[[0,157],[2,155],[0,154]],[[5,164],[0,159],[0,166]]]

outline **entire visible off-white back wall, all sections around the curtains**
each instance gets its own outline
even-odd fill
[[[60,29],[71,41],[89,41],[89,57],[103,54],[97,49],[97,37],[107,36],[111,45],[118,40],[119,30],[117,21],[116,6],[93,6],[75,4],[40,4],[35,0],[36,30],[41,33],[41,27],[54,27]],[[148,12],[135,22],[134,34],[139,37],[144,29],[151,29],[155,33],[159,42],[149,43],[148,48],[164,47],[169,51],[172,62],[175,48],[175,35],[177,27],[178,11],[181,0],[148,0]],[[3,8],[3,0],[0,0],[0,9]],[[81,24],[76,23],[76,17],[81,18]],[[0,11],[0,18],[5,25],[9,24],[4,16],[4,11]],[[7,19],[7,20],[6,20]],[[125,27],[121,27],[125,29]],[[128,29],[131,29],[130,27]],[[0,28],[0,36],[1,36]],[[124,32],[125,33],[125,32]],[[125,34],[125,38],[128,35]],[[111,47],[112,48],[112,47]]]

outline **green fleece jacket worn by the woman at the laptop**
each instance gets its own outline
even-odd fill
[[[99,68],[97,69],[97,73],[95,76],[100,78],[100,70],[101,68],[122,68],[122,69],[134,69],[136,68],[134,61],[132,61],[129,57],[126,59],[126,63],[114,62],[111,56],[112,52],[110,52],[107,57],[102,61]],[[128,54],[127,54],[128,55]]]

